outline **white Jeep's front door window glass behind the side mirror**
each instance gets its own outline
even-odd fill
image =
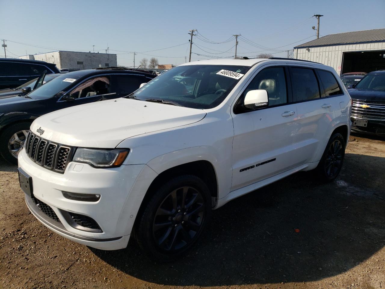
[[[250,82],[246,93],[254,89],[264,89],[269,97],[269,106],[285,104],[287,102],[285,69],[283,67],[269,67],[259,72]]]

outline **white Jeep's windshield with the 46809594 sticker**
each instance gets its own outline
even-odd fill
[[[177,66],[163,72],[129,97],[173,102],[187,108],[214,108],[249,69],[248,66],[229,65]]]

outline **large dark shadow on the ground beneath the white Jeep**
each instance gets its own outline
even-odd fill
[[[360,171],[357,156],[372,164],[370,178],[350,173]],[[123,273],[169,286],[302,282],[335,276],[385,245],[385,192],[370,186],[373,178],[378,178],[376,182],[385,178],[379,170],[384,165],[385,158],[346,154],[333,183],[321,184],[310,172],[302,172],[233,200],[213,211],[203,239],[172,263],[150,260],[134,242],[124,250],[91,250]]]

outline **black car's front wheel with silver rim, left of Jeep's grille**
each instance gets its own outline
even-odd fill
[[[23,121],[3,129],[0,134],[0,155],[4,160],[17,165],[17,155],[23,148],[30,126],[30,122]]]

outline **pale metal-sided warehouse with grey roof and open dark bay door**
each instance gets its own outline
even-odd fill
[[[385,69],[385,29],[326,35],[294,47],[294,58],[326,64],[338,74]]]

